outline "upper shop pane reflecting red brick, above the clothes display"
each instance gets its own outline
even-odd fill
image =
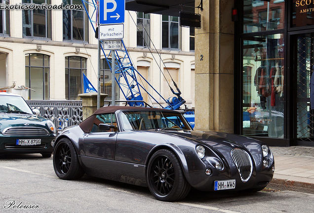
[[[244,0],[243,33],[284,28],[284,0]]]

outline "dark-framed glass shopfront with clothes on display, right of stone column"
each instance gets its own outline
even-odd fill
[[[236,36],[236,132],[314,145],[313,0],[241,0]],[[314,83],[314,79],[312,80]],[[314,94],[314,87],[312,88]],[[240,113],[241,111],[241,113]],[[240,122],[238,122],[240,123]]]

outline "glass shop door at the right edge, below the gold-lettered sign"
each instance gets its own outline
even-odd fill
[[[294,36],[294,45],[297,144],[314,145],[314,33]]]

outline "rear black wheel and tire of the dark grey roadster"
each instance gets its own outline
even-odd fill
[[[61,139],[54,148],[53,168],[60,179],[79,179],[84,175],[78,154],[69,139]]]

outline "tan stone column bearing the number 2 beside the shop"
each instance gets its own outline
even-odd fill
[[[233,6],[231,0],[203,0],[203,10],[196,8],[201,15],[195,33],[196,130],[234,132]]]

